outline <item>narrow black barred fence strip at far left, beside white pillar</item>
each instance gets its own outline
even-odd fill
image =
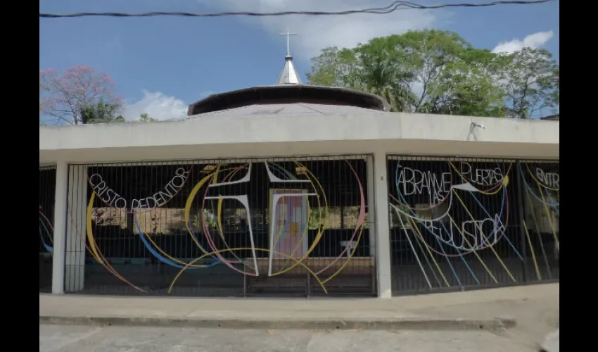
[[[39,167],[39,291],[52,289],[56,165]]]

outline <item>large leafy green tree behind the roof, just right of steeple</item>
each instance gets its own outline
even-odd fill
[[[454,32],[412,31],[353,49],[324,49],[307,78],[378,94],[391,111],[502,116],[504,92],[496,77],[503,61],[497,57]]]

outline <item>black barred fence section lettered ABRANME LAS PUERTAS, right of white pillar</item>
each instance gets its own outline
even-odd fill
[[[395,294],[559,279],[559,162],[388,156]]]

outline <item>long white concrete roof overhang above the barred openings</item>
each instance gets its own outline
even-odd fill
[[[559,122],[377,112],[39,127],[40,163],[374,152],[559,158]]]

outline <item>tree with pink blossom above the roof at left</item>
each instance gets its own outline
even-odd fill
[[[89,111],[98,109],[102,110],[102,117],[89,118]],[[63,73],[51,68],[39,70],[40,118],[45,115],[54,118],[56,124],[70,125],[121,122],[121,109],[122,97],[117,96],[115,84],[106,73],[82,65]]]

